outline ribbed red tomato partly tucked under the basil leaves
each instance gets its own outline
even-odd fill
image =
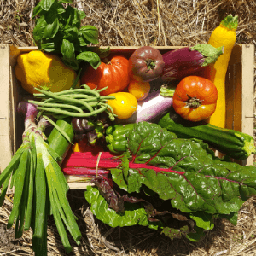
[[[81,76],[81,84],[87,84],[90,89],[102,89],[108,86],[107,90],[101,92],[102,96],[124,90],[130,82],[128,73],[129,61],[121,55],[113,56],[110,61],[105,60],[95,70],[89,66]]]

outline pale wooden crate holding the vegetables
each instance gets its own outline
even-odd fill
[[[181,47],[155,47],[161,53]],[[20,82],[15,78],[17,56],[38,49],[0,44],[0,172],[9,164],[20,146],[23,119],[16,114],[17,103],[24,96]],[[129,57],[137,47],[112,47],[111,52]],[[253,136],[253,44],[236,45],[230,58],[226,76],[226,127]],[[253,155],[240,162],[253,165]],[[70,189],[85,189],[87,183],[69,183]]]

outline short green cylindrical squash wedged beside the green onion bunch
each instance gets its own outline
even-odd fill
[[[73,141],[74,133],[73,133],[73,126],[71,124],[71,118],[67,119],[58,119],[56,121],[56,125],[58,125],[62,131],[67,133],[67,136],[70,138],[70,141]],[[50,132],[48,137],[49,148],[52,148],[56,154],[61,157],[61,164],[62,160],[64,160],[71,144],[67,141],[67,139],[58,131],[55,127]]]

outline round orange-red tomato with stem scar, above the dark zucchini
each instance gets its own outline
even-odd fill
[[[217,99],[218,90],[212,81],[189,76],[177,84],[172,105],[183,119],[197,122],[214,113]]]

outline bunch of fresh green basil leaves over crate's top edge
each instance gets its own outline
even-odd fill
[[[38,49],[61,55],[62,61],[74,70],[79,70],[81,61],[96,69],[109,49],[90,47],[98,44],[97,28],[81,26],[84,12],[70,5],[65,8],[62,3],[72,4],[73,0],[42,0],[33,9],[32,17],[38,17],[33,30]]]

